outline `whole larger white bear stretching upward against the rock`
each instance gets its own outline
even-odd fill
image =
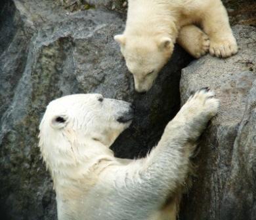
[[[39,147],[51,171],[59,220],[173,220],[189,156],[217,112],[213,92],[196,92],[167,124],[146,158],[115,158],[109,149],[131,124],[131,105],[99,94],[52,101]]]

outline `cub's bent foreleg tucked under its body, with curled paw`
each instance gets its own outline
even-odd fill
[[[209,51],[209,37],[193,24],[181,27],[177,42],[194,58],[200,58]]]

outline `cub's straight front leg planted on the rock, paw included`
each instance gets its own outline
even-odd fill
[[[210,1],[202,10],[203,31],[209,35],[212,56],[227,58],[238,52],[236,39],[228,22],[228,14],[221,0]]]

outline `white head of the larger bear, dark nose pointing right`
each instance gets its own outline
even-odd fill
[[[47,106],[39,127],[39,147],[43,156],[51,157],[49,160],[54,160],[59,152],[90,150],[82,149],[84,145],[110,147],[132,119],[133,109],[125,101],[100,94],[64,96]]]

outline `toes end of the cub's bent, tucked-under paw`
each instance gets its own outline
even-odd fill
[[[198,42],[195,43],[194,51],[191,52],[192,56],[195,58],[200,58],[209,52],[210,40],[209,37],[203,33],[198,36]]]

